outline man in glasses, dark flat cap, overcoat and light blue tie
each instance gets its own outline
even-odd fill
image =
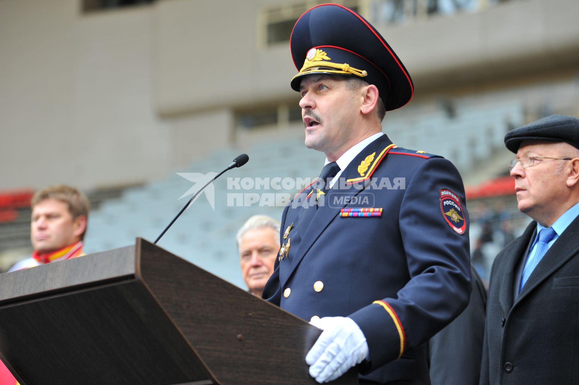
[[[490,276],[481,384],[579,383],[579,119],[505,135],[519,210],[533,222]]]

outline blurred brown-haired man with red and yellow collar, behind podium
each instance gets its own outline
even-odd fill
[[[89,200],[82,192],[65,185],[49,186],[32,196],[31,207],[34,252],[9,272],[83,255]]]

